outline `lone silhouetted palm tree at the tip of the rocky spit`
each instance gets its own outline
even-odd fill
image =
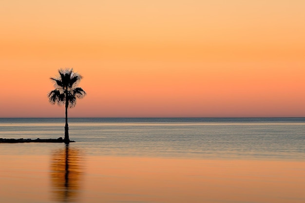
[[[49,102],[58,106],[65,105],[66,109],[66,125],[64,142],[69,143],[69,127],[68,127],[68,107],[73,108],[76,105],[76,98],[83,98],[86,92],[77,87],[82,76],[73,72],[73,69],[59,69],[59,75],[50,77],[54,83],[55,90],[48,93]]]

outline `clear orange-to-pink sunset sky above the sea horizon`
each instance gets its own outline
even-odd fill
[[[305,116],[304,0],[1,0],[0,117]]]

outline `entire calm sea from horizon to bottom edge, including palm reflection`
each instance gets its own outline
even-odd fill
[[[0,138],[63,129],[0,118]],[[69,135],[0,144],[0,202],[305,202],[304,118],[69,118]]]

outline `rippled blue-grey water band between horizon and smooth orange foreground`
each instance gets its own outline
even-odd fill
[[[0,118],[0,138],[58,138],[63,129],[63,118]],[[69,118],[69,129],[88,155],[305,160],[305,118]],[[6,144],[0,153],[57,145]]]

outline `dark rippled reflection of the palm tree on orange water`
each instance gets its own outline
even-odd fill
[[[50,177],[53,201],[67,203],[79,200],[83,166],[83,154],[69,144],[52,152]]]

